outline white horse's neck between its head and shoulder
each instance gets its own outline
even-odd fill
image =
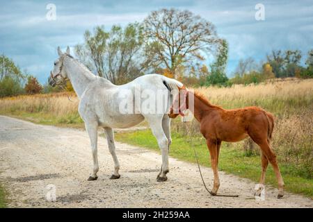
[[[72,58],[65,58],[64,67],[67,77],[70,79],[73,89],[80,99],[88,84],[95,80],[96,77],[86,67]]]

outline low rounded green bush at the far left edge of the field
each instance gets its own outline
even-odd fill
[[[16,96],[18,94],[23,94],[23,93],[24,93],[24,90],[22,87],[22,83],[18,78],[5,76],[0,81],[0,97]]]

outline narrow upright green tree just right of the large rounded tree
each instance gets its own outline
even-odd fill
[[[226,40],[222,40],[216,61],[210,65],[211,74],[207,76],[207,85],[225,85],[227,83],[227,58],[228,44]]]

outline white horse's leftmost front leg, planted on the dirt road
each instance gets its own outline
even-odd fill
[[[98,124],[96,122],[86,122],[85,127],[90,138],[90,146],[93,153],[93,173],[90,174],[88,180],[97,180],[97,172],[99,171],[97,155]]]

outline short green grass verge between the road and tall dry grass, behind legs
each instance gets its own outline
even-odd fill
[[[150,130],[141,130],[130,133],[117,133],[115,139],[119,142],[150,148],[159,152],[157,140]],[[210,167],[209,151],[202,139],[193,139],[193,144],[199,156],[200,165]],[[187,162],[195,162],[193,148],[186,138],[182,138],[177,133],[172,133],[172,145],[170,146],[170,156]],[[248,178],[255,182],[259,181],[261,174],[260,157],[257,155],[246,156],[241,148],[241,143],[223,143],[220,150],[220,160],[218,169],[226,173],[232,173],[242,178]],[[297,176],[294,166],[280,163],[280,171],[284,178],[285,189],[295,194],[303,194],[313,198],[313,180]],[[269,165],[266,172],[266,184],[277,187],[277,180],[273,168]]]

